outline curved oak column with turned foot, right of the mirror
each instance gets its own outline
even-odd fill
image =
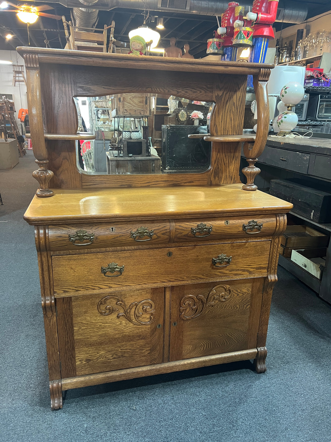
[[[248,167],[242,169],[243,174],[247,178],[247,184],[244,184],[242,187],[244,191],[256,191],[257,189],[254,179],[259,175],[260,169],[255,166],[255,162],[263,152],[268,137],[270,112],[267,83],[270,72],[271,69],[262,68],[258,76],[253,76],[257,108],[257,130],[254,145],[252,143],[244,143],[244,156],[249,164]]]

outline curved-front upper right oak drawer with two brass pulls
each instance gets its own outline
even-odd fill
[[[273,235],[276,217],[175,220],[175,242]]]

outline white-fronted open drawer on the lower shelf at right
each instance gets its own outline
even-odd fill
[[[322,278],[327,249],[314,248],[309,250],[293,250],[291,261],[304,268],[318,279]]]

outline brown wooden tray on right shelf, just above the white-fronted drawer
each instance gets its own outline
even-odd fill
[[[326,247],[328,236],[307,225],[289,225],[281,238],[284,248]]]

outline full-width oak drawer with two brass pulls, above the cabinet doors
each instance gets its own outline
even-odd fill
[[[53,256],[54,291],[265,275],[269,251],[270,241],[252,241]]]

